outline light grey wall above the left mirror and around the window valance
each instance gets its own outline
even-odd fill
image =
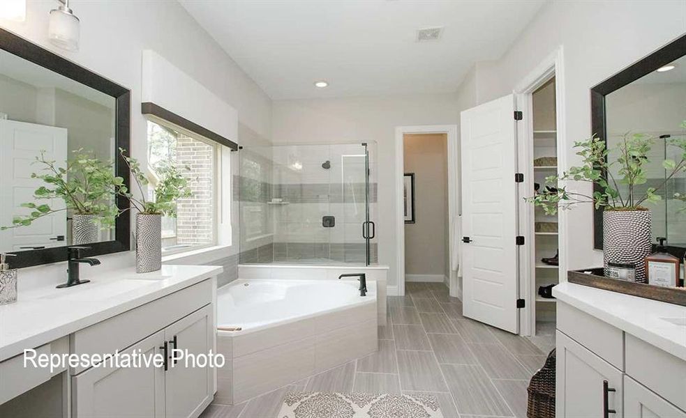
[[[145,160],[147,150],[146,122],[140,113],[143,49],[158,52],[237,109],[240,142],[269,142],[271,99],[176,1],[70,2],[81,20],[79,52],[65,52],[47,42],[48,14],[55,7],[54,1],[28,1],[25,22],[0,20],[0,26],[131,89],[134,157]],[[237,162],[235,153],[233,161]],[[232,253],[237,250],[236,245]],[[106,263],[110,257],[120,258],[100,259]]]

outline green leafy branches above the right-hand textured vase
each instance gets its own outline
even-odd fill
[[[686,129],[686,121],[681,124]],[[655,143],[655,137],[646,134],[625,134],[622,141],[616,147],[618,157],[616,161],[609,162],[607,156],[609,150],[604,141],[592,137],[586,141],[577,141],[574,148],[579,151],[582,165],[571,167],[561,176],[546,177],[546,187],[528,199],[530,203],[539,206],[548,215],[555,215],[558,209],[565,209],[577,203],[593,203],[595,208],[605,210],[647,210],[643,203],[656,203],[662,199],[658,192],[667,182],[681,172],[686,172],[686,139],[669,139],[670,145],[681,150],[680,160],[664,160],[662,167],[666,170],[664,181],[657,187],[648,187],[646,192],[636,192],[637,185],[646,184],[646,163],[651,146]],[[617,168],[618,178],[613,175],[613,169]],[[559,181],[574,180],[584,181],[598,185],[597,191],[592,195],[569,192],[565,186],[558,186]],[[620,185],[625,185],[627,192],[620,193]],[[686,201],[684,196],[676,193],[675,199]]]

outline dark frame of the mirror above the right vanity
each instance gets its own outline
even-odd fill
[[[686,35],[673,40],[664,47],[658,49],[646,56],[645,58],[636,61],[629,67],[621,70],[616,75],[604,80],[600,84],[593,86],[590,89],[590,103],[591,103],[591,130],[593,134],[599,139],[602,139],[607,145],[606,138],[606,113],[605,113],[605,96],[613,91],[616,91],[627,84],[635,82],[637,79],[650,74],[669,64],[676,59],[686,56]],[[606,178],[606,175],[605,175]],[[599,192],[600,187],[593,184],[594,192]],[[598,208],[593,211],[593,247],[595,249],[603,249],[603,209]],[[686,248],[684,247],[667,247],[667,250],[674,256],[682,258]]]

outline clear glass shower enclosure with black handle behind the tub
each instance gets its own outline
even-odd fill
[[[375,144],[244,147],[240,263],[378,261]]]

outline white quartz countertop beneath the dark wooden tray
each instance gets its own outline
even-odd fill
[[[553,296],[686,361],[686,307],[568,282]]]

